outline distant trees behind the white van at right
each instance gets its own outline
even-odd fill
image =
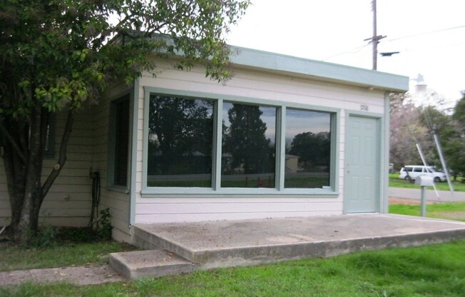
[[[463,101],[463,99],[462,99]],[[439,151],[432,134],[439,139],[447,168],[456,178],[465,173],[465,139],[461,118],[461,101],[454,115],[438,106],[414,106],[411,101],[397,97],[391,101],[390,160],[394,168],[407,164],[421,164],[417,144],[426,163],[442,168]]]

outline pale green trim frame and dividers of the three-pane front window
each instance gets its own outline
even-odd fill
[[[337,149],[337,144],[339,141],[339,109],[334,108],[325,108],[321,106],[312,106],[307,104],[292,104],[285,101],[270,101],[264,99],[253,99],[246,98],[241,96],[228,96],[228,95],[219,95],[219,94],[210,94],[203,92],[193,92],[193,91],[181,91],[173,89],[161,89],[155,87],[144,86],[144,122],[143,122],[143,160],[148,160],[148,119],[149,119],[149,101],[150,94],[160,94],[160,95],[169,95],[169,96],[185,96],[195,99],[215,99],[218,104],[215,104],[215,109],[220,111],[223,106],[223,101],[233,101],[237,103],[245,104],[260,104],[262,106],[274,106],[278,110],[278,114],[285,113],[287,107],[292,107],[292,109],[302,109],[305,111],[321,111],[328,112],[331,114],[331,163],[330,163],[330,186],[327,188],[284,188],[284,150],[283,136],[282,131],[285,130],[285,121],[281,117],[281,121],[278,121],[279,126],[277,126],[277,139],[281,144],[280,148],[277,148],[277,166],[275,169],[276,174],[276,183],[275,188],[221,188],[220,187],[220,172],[221,165],[218,160],[221,160],[222,152],[221,145],[218,144],[218,140],[221,139],[222,135],[222,123],[218,115],[220,112],[217,112],[215,118],[215,131],[214,131],[214,140],[215,140],[215,160],[213,168],[213,184],[211,188],[191,188],[191,187],[150,187],[148,184],[148,162],[143,162],[143,173],[142,173],[142,195],[143,197],[155,197],[155,196],[249,196],[249,195],[266,195],[266,196],[282,196],[282,195],[295,195],[295,196],[335,196],[337,195],[337,176],[339,176],[338,169],[338,158],[339,151]],[[281,184],[282,183],[282,184]]]

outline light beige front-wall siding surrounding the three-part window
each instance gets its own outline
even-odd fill
[[[160,66],[160,64],[159,64]],[[162,65],[163,68],[163,65]],[[292,102],[307,108],[339,109],[337,134],[339,144],[339,176],[336,177],[339,195],[325,198],[312,196],[250,197],[233,196],[150,196],[142,191],[143,168],[143,86],[188,92],[210,93],[222,98],[260,99],[268,102]],[[370,114],[384,114],[384,92],[357,86],[344,86],[302,77],[265,74],[247,69],[235,69],[235,76],[225,85],[205,79],[203,69],[176,71],[165,65],[156,79],[146,74],[140,79],[138,112],[138,146],[136,173],[135,223],[205,221],[217,219],[269,218],[286,216],[327,216],[342,214],[344,207],[344,138],[347,111],[360,111],[368,106]]]

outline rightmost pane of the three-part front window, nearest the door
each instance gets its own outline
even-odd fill
[[[286,110],[285,188],[329,186],[331,114]]]

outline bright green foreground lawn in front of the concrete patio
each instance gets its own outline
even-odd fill
[[[465,241],[222,268],[98,286],[0,288],[0,296],[463,296]]]

